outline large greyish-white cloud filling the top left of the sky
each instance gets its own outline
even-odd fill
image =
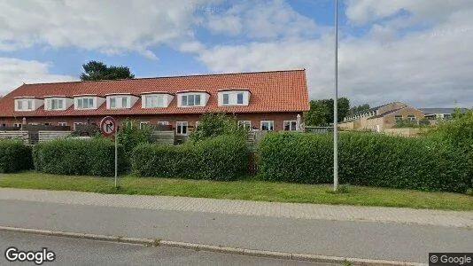
[[[192,38],[205,0],[0,0],[0,51],[34,45],[120,53]]]

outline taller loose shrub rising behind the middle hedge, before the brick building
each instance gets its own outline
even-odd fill
[[[225,113],[203,113],[197,129],[190,133],[190,141],[199,141],[222,135],[246,137],[248,129],[238,126],[235,118]]]

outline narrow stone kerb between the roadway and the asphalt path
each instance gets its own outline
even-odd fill
[[[212,246],[212,245],[205,245],[205,244],[194,244],[194,243],[186,243],[186,242],[178,242],[178,241],[161,240],[161,239],[128,238],[128,237],[121,237],[121,236],[78,233],[78,232],[69,232],[69,231],[50,231],[50,230],[30,229],[30,228],[20,228],[20,227],[10,227],[10,226],[0,226],[0,231],[29,233],[29,234],[44,235],[44,236],[65,237],[65,238],[72,238],[72,239],[92,239],[92,240],[101,240],[101,241],[108,241],[108,242],[115,242],[115,243],[135,244],[135,245],[144,245],[144,246],[179,247],[179,248],[186,248],[186,249],[194,249],[198,251],[219,252],[219,253],[224,253],[224,254],[242,254],[242,255],[258,256],[258,257],[306,261],[306,262],[324,262],[324,263],[340,263],[340,264],[344,262],[350,262],[351,265],[360,265],[360,266],[361,265],[363,266],[427,265],[425,263],[416,263],[416,262],[398,262],[398,261],[384,261],[384,260],[370,260],[370,259],[359,259],[359,258],[348,258],[348,257],[337,257],[337,256],[325,256],[325,255],[315,255],[315,254],[286,253],[286,252],[246,249],[246,248],[229,247],[229,246]]]

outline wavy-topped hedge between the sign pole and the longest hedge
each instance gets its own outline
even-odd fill
[[[247,174],[248,148],[243,138],[232,136],[184,145],[139,145],[132,169],[137,176],[234,180]]]

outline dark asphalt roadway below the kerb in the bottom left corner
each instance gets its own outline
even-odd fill
[[[47,247],[57,258],[43,265],[335,265],[2,231],[0,265],[35,265],[33,262],[8,262],[4,253],[10,246],[23,251]]]

